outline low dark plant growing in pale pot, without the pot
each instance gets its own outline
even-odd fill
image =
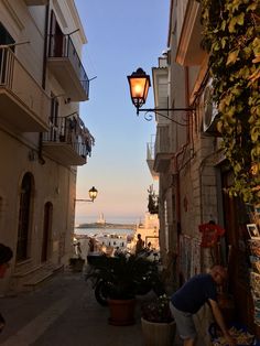
[[[169,303],[170,299],[166,296],[166,294],[160,295],[153,301],[147,302],[141,306],[141,315],[149,322],[173,322]]]

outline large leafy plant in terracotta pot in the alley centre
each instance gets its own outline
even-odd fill
[[[154,267],[147,258],[130,253],[106,259],[99,270],[99,280],[107,290],[110,324],[134,323],[136,295],[151,289],[150,275],[154,275]]]

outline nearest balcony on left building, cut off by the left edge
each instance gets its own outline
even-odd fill
[[[7,46],[0,46],[0,121],[12,130],[48,130],[50,98]]]

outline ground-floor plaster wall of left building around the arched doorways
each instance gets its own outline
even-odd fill
[[[33,207],[30,225],[29,253],[32,266],[41,263],[41,249],[43,236],[44,205],[53,205],[52,242],[50,259],[68,253],[58,253],[57,242],[64,235],[67,236],[65,252],[68,251],[68,241],[73,231],[74,198],[76,172],[62,166],[45,158],[42,165],[30,159],[31,148],[9,133],[0,130],[0,158],[4,164],[0,172],[0,235],[1,241],[14,250],[11,271],[15,271],[15,247],[18,236],[18,220],[20,207],[20,190],[22,177],[30,172],[34,177]],[[59,258],[61,260],[61,258]]]

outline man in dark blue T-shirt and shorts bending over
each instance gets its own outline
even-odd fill
[[[223,285],[226,280],[226,269],[221,266],[214,266],[209,273],[193,277],[171,296],[170,309],[175,318],[178,334],[184,340],[184,346],[195,345],[197,333],[193,315],[196,314],[205,303],[210,305],[213,315],[227,344],[229,346],[236,345],[235,339],[226,327],[217,303],[217,286]]]

